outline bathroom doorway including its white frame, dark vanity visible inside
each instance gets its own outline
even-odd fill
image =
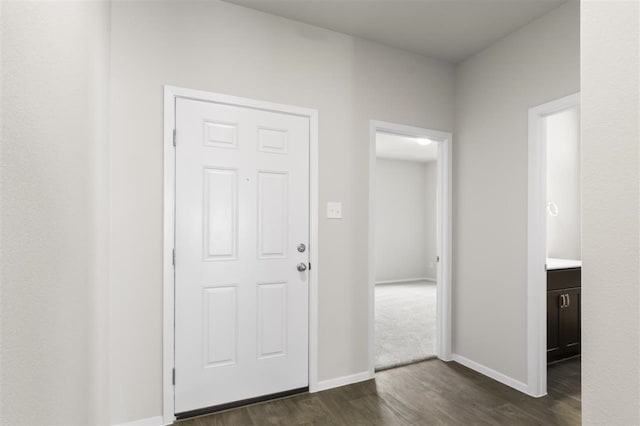
[[[554,363],[580,372],[579,94],[531,108],[529,131],[528,382],[543,396]]]

